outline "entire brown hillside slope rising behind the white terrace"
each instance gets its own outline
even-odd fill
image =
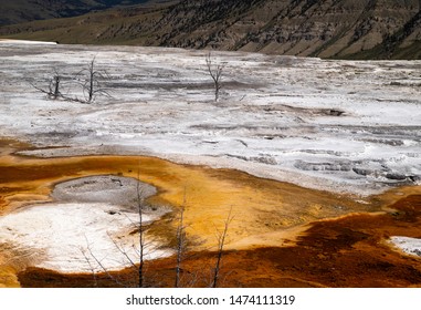
[[[419,0],[182,0],[0,28],[62,43],[124,43],[301,56],[420,59]]]

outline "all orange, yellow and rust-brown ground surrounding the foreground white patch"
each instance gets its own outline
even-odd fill
[[[173,242],[177,214],[181,206],[185,207],[189,252],[194,254],[187,256],[183,262],[186,275],[197,278],[203,266],[211,265],[212,251],[218,245],[215,231],[222,229],[232,210],[222,268],[227,273],[224,286],[352,287],[360,283],[394,287],[421,283],[420,260],[391,250],[386,242],[394,232],[421,237],[417,232],[420,187],[392,189],[360,202],[357,197],[257,178],[238,170],[179,165],[155,157],[33,158],[13,155],[14,151],[29,147],[0,141],[0,216],[52,202],[50,194],[63,182],[96,175],[139,176],[141,182],[158,190],[147,203],[171,209],[170,216],[159,221],[152,234]],[[398,200],[399,204],[409,202],[414,211],[399,209],[399,204],[388,208]],[[375,223],[380,224],[376,226]],[[396,227],[401,229],[394,230]],[[92,275],[62,275],[33,268],[30,259],[25,260],[24,255],[20,259],[19,251],[12,248],[13,245],[0,244],[0,286],[93,286]],[[376,264],[362,259],[367,256],[375,257]],[[159,286],[172,282],[167,282],[166,277],[173,279],[173,258],[162,258],[147,262],[148,270],[162,276]],[[359,272],[364,270],[371,280],[358,282]],[[119,272],[124,277],[133,276],[128,270]],[[409,273],[412,276],[407,276]],[[105,275],[98,275],[97,279],[99,286],[115,286]],[[206,283],[199,281],[196,286]]]

